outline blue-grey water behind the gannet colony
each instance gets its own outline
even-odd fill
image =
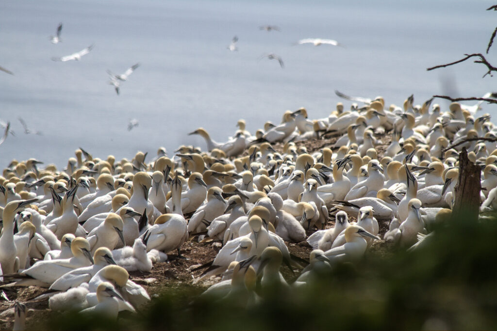
[[[138,150],[171,155],[180,144],[205,149],[199,126],[218,141],[245,118],[254,132],[301,106],[328,116],[351,95],[382,95],[402,105],[436,93],[481,96],[495,88],[483,66],[426,68],[483,53],[495,28],[493,1],[3,0],[0,2],[0,119],[15,137],[0,165],[37,158],[62,167],[78,147],[93,156],[131,159]],[[49,36],[59,22],[63,41]],[[281,31],[261,31],[272,24]],[[239,37],[238,52],[227,46]],[[293,45],[330,38],[345,48]],[[94,49],[81,61],[52,57]],[[259,60],[264,53],[283,58]],[[497,45],[488,59],[497,63]],[[106,70],[141,66],[117,96]],[[441,83],[441,82],[446,83]],[[446,106],[447,103],[438,100]],[[350,102],[345,102],[348,107]],[[496,106],[484,104],[495,114]],[[43,135],[26,135],[17,118]],[[131,118],[139,126],[127,131]]]

